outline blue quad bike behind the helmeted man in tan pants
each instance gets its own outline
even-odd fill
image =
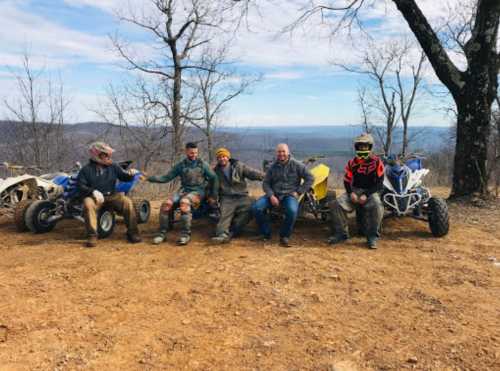
[[[132,161],[120,162],[119,165],[127,169]],[[71,174],[55,174],[52,182],[62,188],[61,195],[53,200],[39,200],[30,203],[24,210],[24,221],[28,229],[33,233],[47,233],[63,219],[76,219],[85,222],[83,217],[83,205],[77,197],[76,179],[80,164]],[[139,183],[140,173],[134,176],[130,182],[117,182],[116,192],[129,194]],[[133,199],[138,223],[146,223],[151,214],[149,201]],[[97,214],[97,234],[99,238],[109,237],[115,227],[115,211],[112,207],[104,205]]]

